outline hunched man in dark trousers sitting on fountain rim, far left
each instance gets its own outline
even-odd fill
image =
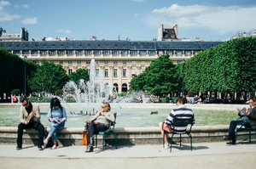
[[[20,124],[17,131],[17,150],[22,149],[23,130],[34,128],[38,130],[38,149],[42,150],[44,144],[44,126],[40,122],[40,110],[38,106],[33,106],[29,99],[22,98],[20,100],[22,106],[20,107]]]

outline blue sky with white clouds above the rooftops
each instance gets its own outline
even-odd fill
[[[0,0],[0,27],[29,39],[151,41],[160,25],[178,38],[225,41],[256,29],[255,0]]]

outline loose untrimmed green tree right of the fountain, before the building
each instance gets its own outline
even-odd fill
[[[177,92],[179,89],[176,70],[169,55],[154,59],[142,74],[131,80],[130,87],[131,90],[143,90],[160,96]]]

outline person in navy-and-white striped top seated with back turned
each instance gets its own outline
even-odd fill
[[[160,122],[160,129],[161,129],[162,135],[164,134],[164,130],[166,130],[166,132],[170,132],[170,130],[168,131],[166,127],[171,127],[171,130],[173,130],[172,122],[174,117],[183,118],[183,119],[190,119],[190,118],[194,119],[193,111],[186,107],[185,102],[186,102],[185,99],[178,98],[176,100],[177,108],[171,111],[171,113],[167,116],[166,121]],[[175,132],[185,132],[186,128],[187,127],[175,127]],[[165,148],[168,148],[169,147],[168,134],[165,134],[164,138],[165,138]]]

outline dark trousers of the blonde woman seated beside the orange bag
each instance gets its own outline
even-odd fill
[[[99,132],[104,132],[106,130],[108,130],[108,125],[90,122],[87,130],[87,143],[89,143],[90,145],[94,145],[93,135],[98,134]]]

